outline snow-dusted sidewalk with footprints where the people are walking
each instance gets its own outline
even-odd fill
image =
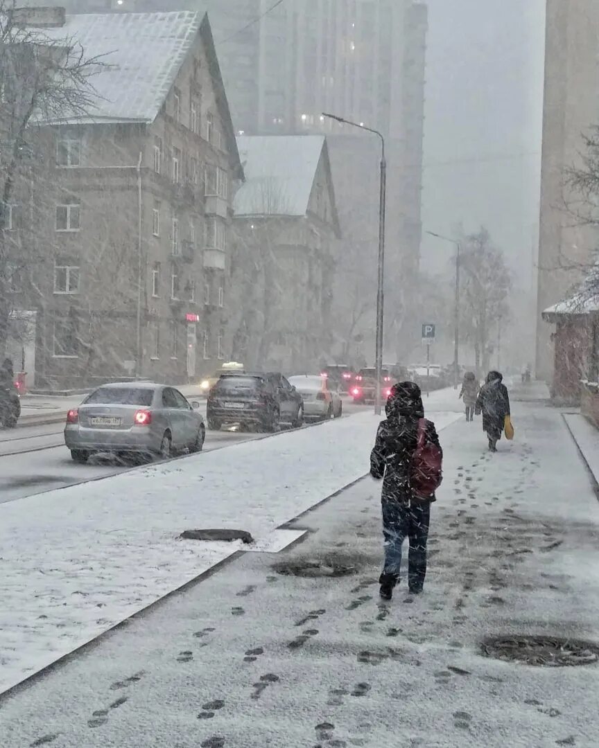
[[[599,641],[589,476],[559,412],[513,414],[517,441],[493,456],[480,422],[442,433],[422,597],[403,582],[379,604],[380,484],[364,479],[290,525],[310,531],[300,545],[234,558],[4,699],[0,744],[596,748],[598,663],[481,656],[493,636]],[[280,573],[318,561],[355,573]]]

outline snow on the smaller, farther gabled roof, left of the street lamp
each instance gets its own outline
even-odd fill
[[[323,147],[323,135],[238,137],[246,183],[235,196],[235,214],[305,215]]]

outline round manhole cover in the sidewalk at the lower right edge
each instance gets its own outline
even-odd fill
[[[599,645],[555,637],[497,637],[485,640],[482,654],[504,662],[537,667],[591,665],[599,661]]]

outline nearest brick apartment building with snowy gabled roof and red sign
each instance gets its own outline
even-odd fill
[[[207,16],[57,15],[106,55],[96,104],[46,122],[23,180],[13,310],[34,315],[37,387],[189,381],[228,355],[228,251],[243,180]],[[135,40],[135,43],[132,43]],[[29,175],[31,177],[31,175]]]

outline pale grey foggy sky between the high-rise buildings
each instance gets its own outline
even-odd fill
[[[528,289],[538,230],[545,0],[427,0],[423,229],[485,224]],[[451,163],[448,163],[451,162]],[[422,267],[451,245],[424,236]]]

